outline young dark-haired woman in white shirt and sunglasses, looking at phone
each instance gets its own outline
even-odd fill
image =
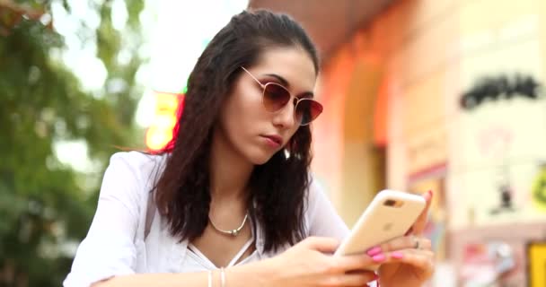
[[[64,285],[421,286],[434,266],[426,212],[408,236],[331,256],[348,228],[309,173],[318,72],[288,16],[235,15],[189,76],[172,145],[112,156]]]

